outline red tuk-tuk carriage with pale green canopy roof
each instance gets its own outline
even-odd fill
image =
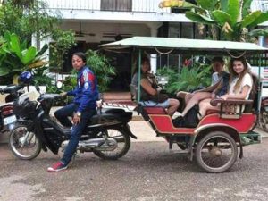
[[[140,86],[140,65],[142,54],[188,54],[218,56],[252,56],[268,53],[268,49],[252,43],[213,41],[186,38],[133,37],[100,46],[105,51],[117,53],[133,52],[138,54],[138,86]],[[259,71],[260,72],[260,71]],[[259,73],[260,74],[260,73]],[[197,164],[205,172],[226,172],[242,158],[243,147],[261,142],[260,134],[254,131],[260,111],[260,94],[249,100],[214,99],[212,105],[221,105],[219,112],[207,113],[196,128],[177,128],[163,107],[141,106],[140,88],[132,89],[136,95],[136,111],[147,121],[157,137],[163,137],[172,145],[176,144],[189,159],[197,159]],[[254,103],[256,102],[256,103]],[[124,103],[128,105],[127,103]],[[133,105],[133,103],[130,103]],[[222,108],[232,105],[246,109],[229,113]],[[252,105],[257,105],[253,108]]]

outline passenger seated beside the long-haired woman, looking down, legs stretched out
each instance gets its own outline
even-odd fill
[[[183,93],[187,93],[184,97],[186,107],[181,113],[181,119],[188,113],[194,105],[206,98],[214,98],[215,96],[222,96],[227,93],[227,86],[229,80],[229,73],[224,71],[224,61],[222,57],[214,57],[212,60],[214,73],[212,75],[212,85],[208,88],[195,91],[193,93],[179,92],[177,96],[183,97]]]

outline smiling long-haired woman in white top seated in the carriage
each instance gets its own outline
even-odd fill
[[[229,65],[230,80],[229,90],[226,95],[220,98],[226,99],[242,99],[247,100],[253,86],[252,76],[248,73],[248,65],[244,57],[232,58]],[[220,110],[219,105],[210,104],[211,98],[205,99],[199,103],[199,113],[201,118],[205,116],[207,110]]]

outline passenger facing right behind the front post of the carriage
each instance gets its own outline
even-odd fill
[[[141,78],[140,78],[140,104],[143,106],[160,106],[167,109],[169,115],[173,115],[177,111],[179,101],[173,98],[166,98],[162,103],[153,101],[153,96],[157,97],[162,88],[156,88],[152,80],[149,79],[151,66],[149,59],[143,57],[141,60]],[[131,84],[138,88],[138,72],[136,72],[131,80]]]

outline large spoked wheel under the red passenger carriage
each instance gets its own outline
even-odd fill
[[[198,142],[196,157],[197,164],[205,172],[225,172],[236,162],[238,147],[229,134],[215,131]]]

